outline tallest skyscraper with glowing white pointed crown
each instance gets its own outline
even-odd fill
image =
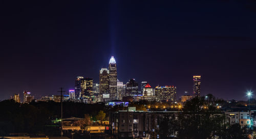
[[[117,69],[114,56],[112,56],[110,59],[109,71],[110,99],[114,100],[117,99]]]

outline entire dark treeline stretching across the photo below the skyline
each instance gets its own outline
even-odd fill
[[[225,124],[225,117],[218,105],[227,105],[226,101],[216,99],[211,94],[205,97],[195,97],[187,101],[182,108],[179,104],[170,102],[130,102],[129,106],[135,106],[137,110],[174,110],[182,111],[177,119],[167,116],[159,125],[160,138],[169,138],[173,132],[178,131],[179,138],[247,138],[248,130],[240,125],[229,126]],[[51,124],[51,119],[59,119],[60,103],[34,102],[16,103],[14,100],[0,102],[0,135],[9,133],[45,133],[47,135],[59,135],[58,127],[46,126]],[[125,110],[123,106],[106,106],[103,103],[85,104],[77,102],[63,102],[63,118],[84,118],[86,114],[90,120],[108,120],[109,112]],[[105,118],[99,117],[99,111],[105,113]],[[170,118],[172,117],[172,118]]]

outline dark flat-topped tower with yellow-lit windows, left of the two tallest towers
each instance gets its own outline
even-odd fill
[[[93,79],[81,79],[81,97],[91,97],[93,95]]]

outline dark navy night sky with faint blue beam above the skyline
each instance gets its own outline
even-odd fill
[[[68,91],[76,76],[98,82],[111,55],[124,83],[181,95],[197,74],[203,95],[256,90],[256,1],[1,1],[0,15],[0,100]]]

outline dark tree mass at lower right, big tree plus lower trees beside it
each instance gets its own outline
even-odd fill
[[[186,101],[182,113],[163,118],[158,131],[160,138],[169,138],[174,132],[178,132],[178,138],[182,139],[249,138],[248,129],[239,124],[225,124],[225,115],[218,107],[222,100],[211,94],[207,96]]]

